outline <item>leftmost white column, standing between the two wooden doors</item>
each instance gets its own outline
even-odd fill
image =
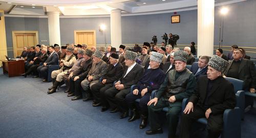
[[[48,12],[49,44],[60,45],[59,12]]]

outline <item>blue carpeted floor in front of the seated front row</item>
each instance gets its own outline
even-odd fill
[[[167,137],[146,135],[140,120],[129,123],[119,113],[101,112],[92,101],[71,101],[63,93],[47,95],[52,83],[31,76],[8,78],[0,68],[0,137]],[[248,109],[247,109],[248,110]],[[256,135],[256,109],[245,113],[242,137]]]

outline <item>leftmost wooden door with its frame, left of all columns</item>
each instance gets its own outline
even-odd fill
[[[12,31],[13,56],[22,54],[23,48],[35,47],[38,44],[37,31]]]

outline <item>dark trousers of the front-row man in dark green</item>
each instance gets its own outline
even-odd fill
[[[156,130],[162,127],[162,124],[160,124],[161,120],[159,115],[164,107],[168,107],[168,112],[166,113],[168,137],[175,137],[181,106],[170,107],[169,101],[165,101],[163,97],[158,99],[156,106],[154,106],[154,104],[148,106],[148,120],[150,121],[151,129]]]

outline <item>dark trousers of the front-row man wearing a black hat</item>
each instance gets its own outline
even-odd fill
[[[103,101],[104,102],[104,107],[109,107],[108,103],[105,102],[105,100],[101,100],[101,95],[109,88],[111,88],[113,86],[113,83],[109,83],[109,84],[103,84],[102,82],[98,82],[96,84],[93,84],[91,87],[91,91],[94,97],[94,100],[96,102],[100,102]],[[104,97],[103,97],[104,98]]]

